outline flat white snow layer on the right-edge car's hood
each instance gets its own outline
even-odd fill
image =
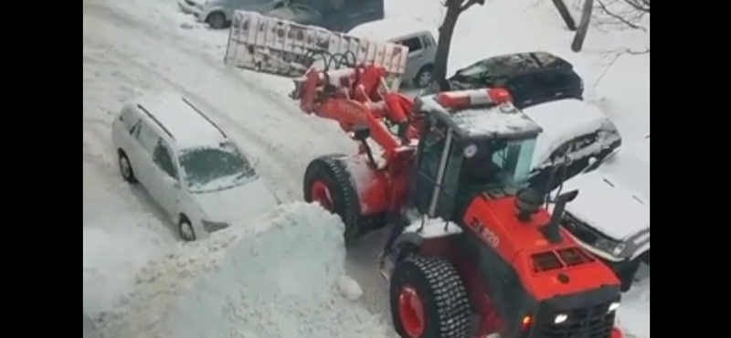
[[[622,185],[616,176],[601,172],[578,175],[563,190],[574,189],[578,189],[577,199],[566,210],[610,238],[626,238],[650,227],[650,199]]]

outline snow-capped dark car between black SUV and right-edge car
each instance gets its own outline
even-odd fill
[[[544,130],[535,143],[531,182],[548,190],[593,161],[604,160],[622,144],[620,131],[607,114],[582,100],[552,100],[523,111]],[[557,164],[565,164],[561,177],[551,177]]]

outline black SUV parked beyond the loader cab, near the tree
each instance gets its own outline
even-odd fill
[[[540,51],[485,58],[457,70],[447,82],[449,90],[503,87],[518,108],[551,100],[583,100],[584,96],[584,81],[574,66]]]

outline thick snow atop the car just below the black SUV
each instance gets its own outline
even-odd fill
[[[614,128],[604,112],[582,100],[549,101],[523,111],[543,128],[535,145],[534,167],[548,160],[556,148],[578,136],[602,128]]]

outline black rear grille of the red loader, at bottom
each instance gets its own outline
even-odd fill
[[[610,304],[605,302],[567,311],[544,309],[536,322],[536,338],[609,338],[616,313],[609,312]],[[556,316],[561,314],[567,315],[566,322],[556,323]]]

